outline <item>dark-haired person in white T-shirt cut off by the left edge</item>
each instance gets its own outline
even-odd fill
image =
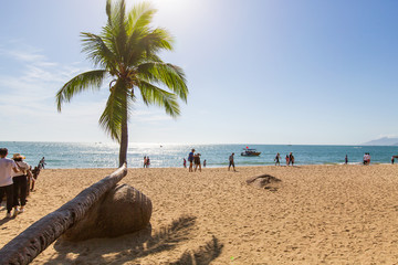
[[[11,210],[13,206],[13,190],[12,190],[12,177],[11,170],[15,173],[19,172],[17,163],[7,158],[8,149],[0,148],[0,203],[7,194],[7,215],[6,218],[11,218]]]

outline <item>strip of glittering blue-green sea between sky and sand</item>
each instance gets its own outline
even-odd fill
[[[25,161],[36,166],[45,157],[46,168],[117,168],[118,146],[102,142],[33,142],[0,141],[0,147],[9,149],[9,156],[20,152]],[[286,145],[250,145],[261,151],[260,157],[241,157],[247,145],[158,145],[129,144],[127,163],[129,168],[143,167],[144,156],[150,157],[150,167],[182,167],[182,158],[188,157],[195,148],[201,153],[201,161],[207,167],[227,167],[229,156],[235,153],[235,166],[274,165],[276,152],[281,153],[281,165],[285,156],[293,152],[295,165],[336,165],[344,163],[348,156],[349,163],[362,163],[365,152],[370,152],[371,163],[390,163],[391,156],[398,155],[398,147],[392,146],[286,146]],[[398,162],[398,161],[397,161]]]

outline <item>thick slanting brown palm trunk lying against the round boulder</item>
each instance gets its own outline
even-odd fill
[[[126,174],[127,167],[124,165],[111,176],[83,190],[55,212],[33,223],[0,250],[0,264],[32,262],[67,229],[84,219],[86,212]]]

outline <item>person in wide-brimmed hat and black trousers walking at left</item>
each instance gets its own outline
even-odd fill
[[[14,212],[13,215],[17,216],[18,213],[24,212],[24,205],[27,204],[27,184],[28,184],[28,176],[32,178],[32,172],[30,170],[30,166],[23,161],[25,157],[21,156],[21,153],[14,153],[12,156],[12,160],[15,161],[17,167],[20,172],[11,172],[12,182],[13,182],[13,206]],[[20,206],[20,209],[18,209]]]

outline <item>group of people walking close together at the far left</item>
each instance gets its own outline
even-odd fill
[[[6,194],[7,197],[7,214],[6,218],[17,216],[24,212],[27,204],[28,178],[32,181],[31,166],[25,161],[25,157],[20,153],[13,153],[12,159],[7,158],[8,149],[0,148],[0,203]],[[44,168],[44,158],[39,167]],[[11,211],[14,209],[13,214]]]

